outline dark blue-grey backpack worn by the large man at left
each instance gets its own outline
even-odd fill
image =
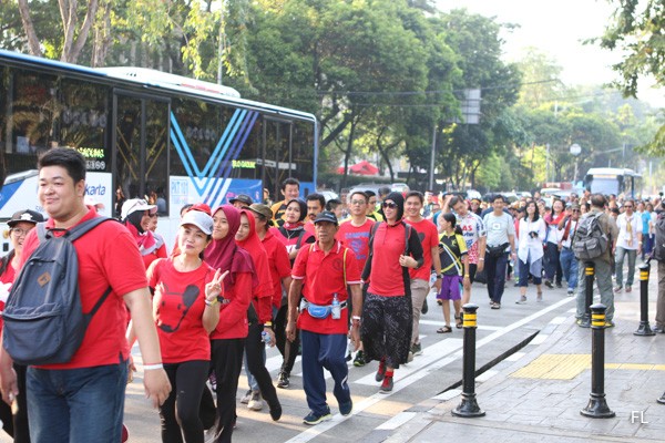
[[[73,241],[111,219],[92,218],[61,237],[48,233],[45,224],[37,225],[39,246],[17,277],[2,312],[3,346],[17,363],[66,363],[81,346],[92,316],[111,288],[83,313]]]

